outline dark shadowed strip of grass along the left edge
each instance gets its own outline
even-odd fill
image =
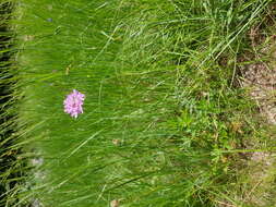
[[[13,4],[0,3],[0,207],[10,203],[9,195],[14,192],[22,178],[17,156],[21,149],[13,148],[15,133],[15,114],[11,113],[14,104],[12,96],[13,75],[9,72],[12,66],[12,34],[9,22]]]

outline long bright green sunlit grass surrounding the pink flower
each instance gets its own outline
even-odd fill
[[[271,3],[14,0],[1,82],[19,156],[2,205],[253,206],[241,157],[273,143],[238,86],[238,57]],[[86,96],[77,119],[62,106],[73,88]],[[11,172],[23,173],[15,186]]]

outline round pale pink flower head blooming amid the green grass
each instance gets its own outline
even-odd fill
[[[77,118],[79,113],[83,113],[83,101],[84,94],[73,89],[73,92],[67,96],[67,99],[63,101],[64,112],[69,113],[73,118]]]

